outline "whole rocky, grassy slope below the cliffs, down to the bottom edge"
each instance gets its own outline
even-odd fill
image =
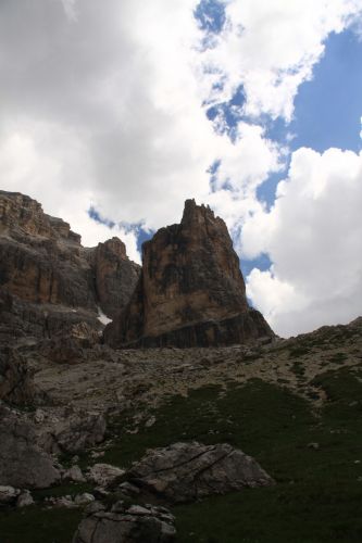
[[[45,543],[70,542],[73,535],[76,543],[110,543],[121,536],[150,542],[279,542],[289,541],[289,525],[296,528],[300,522],[296,515],[304,525],[292,541],[330,541],[336,533],[340,541],[360,541],[355,507],[362,497],[361,318],[249,346],[112,351],[99,345],[83,350],[77,363],[64,364],[23,343],[16,356],[28,361],[29,393],[36,391],[37,400],[21,411],[2,406],[0,431],[5,437],[0,452],[2,458],[13,458],[10,450],[17,446],[16,435],[23,435],[32,469],[24,473],[16,462],[8,460],[1,476],[1,543],[23,543],[25,527],[30,527],[26,541]],[[199,443],[192,452],[195,441]],[[227,480],[245,481],[246,476],[238,468],[235,477],[235,466],[213,472],[214,460],[209,459],[209,467],[196,465],[195,471],[205,468],[208,479],[200,489],[213,489],[211,497],[198,491],[185,500],[190,505],[178,505],[185,489],[198,488],[187,483],[186,476],[194,472],[187,455],[198,457],[204,447],[223,447],[225,442],[233,454],[252,455],[266,469],[258,468],[265,480],[273,478],[276,484],[248,490],[245,502],[246,491],[235,493],[237,485],[228,488]],[[183,452],[177,460],[174,446],[191,452]],[[162,451],[171,451],[171,456]],[[133,464],[142,457],[140,467]],[[187,466],[184,473],[178,465]],[[150,466],[147,473],[145,466]],[[152,469],[164,471],[166,479],[152,475]],[[147,476],[143,482],[140,473]],[[313,504],[313,513],[305,501]],[[333,504],[339,523],[349,522],[350,528],[338,529]],[[208,526],[197,520],[204,517],[204,507],[213,512]],[[326,518],[314,538],[317,509]],[[259,532],[258,512],[263,517]],[[220,515],[227,520],[220,520]],[[254,519],[255,526],[251,529],[248,521],[246,527],[245,518],[241,526],[240,515]],[[279,519],[277,527],[269,515]],[[79,523],[82,518],[88,519],[86,523]],[[60,527],[57,539],[50,530],[54,523]],[[91,533],[98,539],[91,540]],[[109,539],[102,539],[104,534]]]

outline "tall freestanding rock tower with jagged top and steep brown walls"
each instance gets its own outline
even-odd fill
[[[273,336],[246,299],[224,220],[187,200],[179,225],[143,243],[142,273],[126,310],[104,331],[113,346],[215,345]]]

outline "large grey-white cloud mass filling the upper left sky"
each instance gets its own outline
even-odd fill
[[[2,187],[66,219],[76,200],[74,228],[90,204],[157,228],[205,199],[219,142],[192,71],[196,2],[18,5],[0,5]]]

